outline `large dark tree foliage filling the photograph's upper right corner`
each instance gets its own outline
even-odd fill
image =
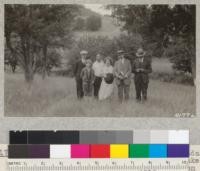
[[[133,33],[142,36],[143,46],[152,55],[163,56],[170,51],[174,69],[190,72],[195,79],[195,5],[109,5],[107,8],[112,9],[112,16],[123,23],[130,36]]]

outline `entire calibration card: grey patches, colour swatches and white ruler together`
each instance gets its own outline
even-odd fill
[[[188,130],[10,131],[9,171],[199,171]]]

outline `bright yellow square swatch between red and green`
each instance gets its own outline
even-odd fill
[[[110,158],[128,158],[128,144],[111,144]]]

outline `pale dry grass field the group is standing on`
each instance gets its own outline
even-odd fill
[[[149,99],[135,101],[132,84],[131,99],[119,104],[117,89],[112,101],[78,101],[75,81],[67,77],[36,76],[27,89],[22,74],[5,74],[6,116],[90,116],[90,117],[173,117],[176,113],[195,113],[195,88],[150,80]]]

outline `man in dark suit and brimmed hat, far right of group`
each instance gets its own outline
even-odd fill
[[[135,90],[136,100],[147,100],[147,88],[149,83],[149,73],[152,72],[151,60],[145,57],[146,52],[139,48],[136,52],[136,59],[133,63],[132,69],[135,74]]]

